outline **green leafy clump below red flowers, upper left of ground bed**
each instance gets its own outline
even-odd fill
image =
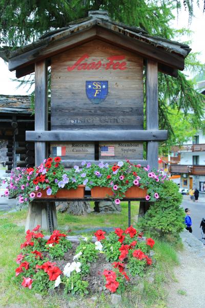
[[[65,237],[61,237],[58,244],[49,247],[49,256],[53,259],[63,259],[65,252],[72,248],[72,244]]]

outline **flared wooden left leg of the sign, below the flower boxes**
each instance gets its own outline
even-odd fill
[[[55,202],[30,202],[25,231],[32,230],[39,224],[42,230],[53,232],[57,228]]]

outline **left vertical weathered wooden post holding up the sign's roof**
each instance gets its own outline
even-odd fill
[[[48,130],[47,63],[35,63],[35,130]],[[46,158],[46,142],[35,142],[35,165]]]

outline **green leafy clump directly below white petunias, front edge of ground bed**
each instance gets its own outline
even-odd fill
[[[65,293],[88,294],[88,281],[82,280],[80,274],[72,273],[69,278],[64,278]]]

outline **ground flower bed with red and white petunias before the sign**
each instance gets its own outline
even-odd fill
[[[66,234],[55,230],[48,240],[39,231],[40,226],[28,230],[17,256],[16,281],[35,292],[49,289],[71,294],[88,294],[109,290],[122,293],[136,275],[143,276],[152,265],[149,257],[154,240],[141,240],[142,234],[132,226],[95,232],[72,244]]]

